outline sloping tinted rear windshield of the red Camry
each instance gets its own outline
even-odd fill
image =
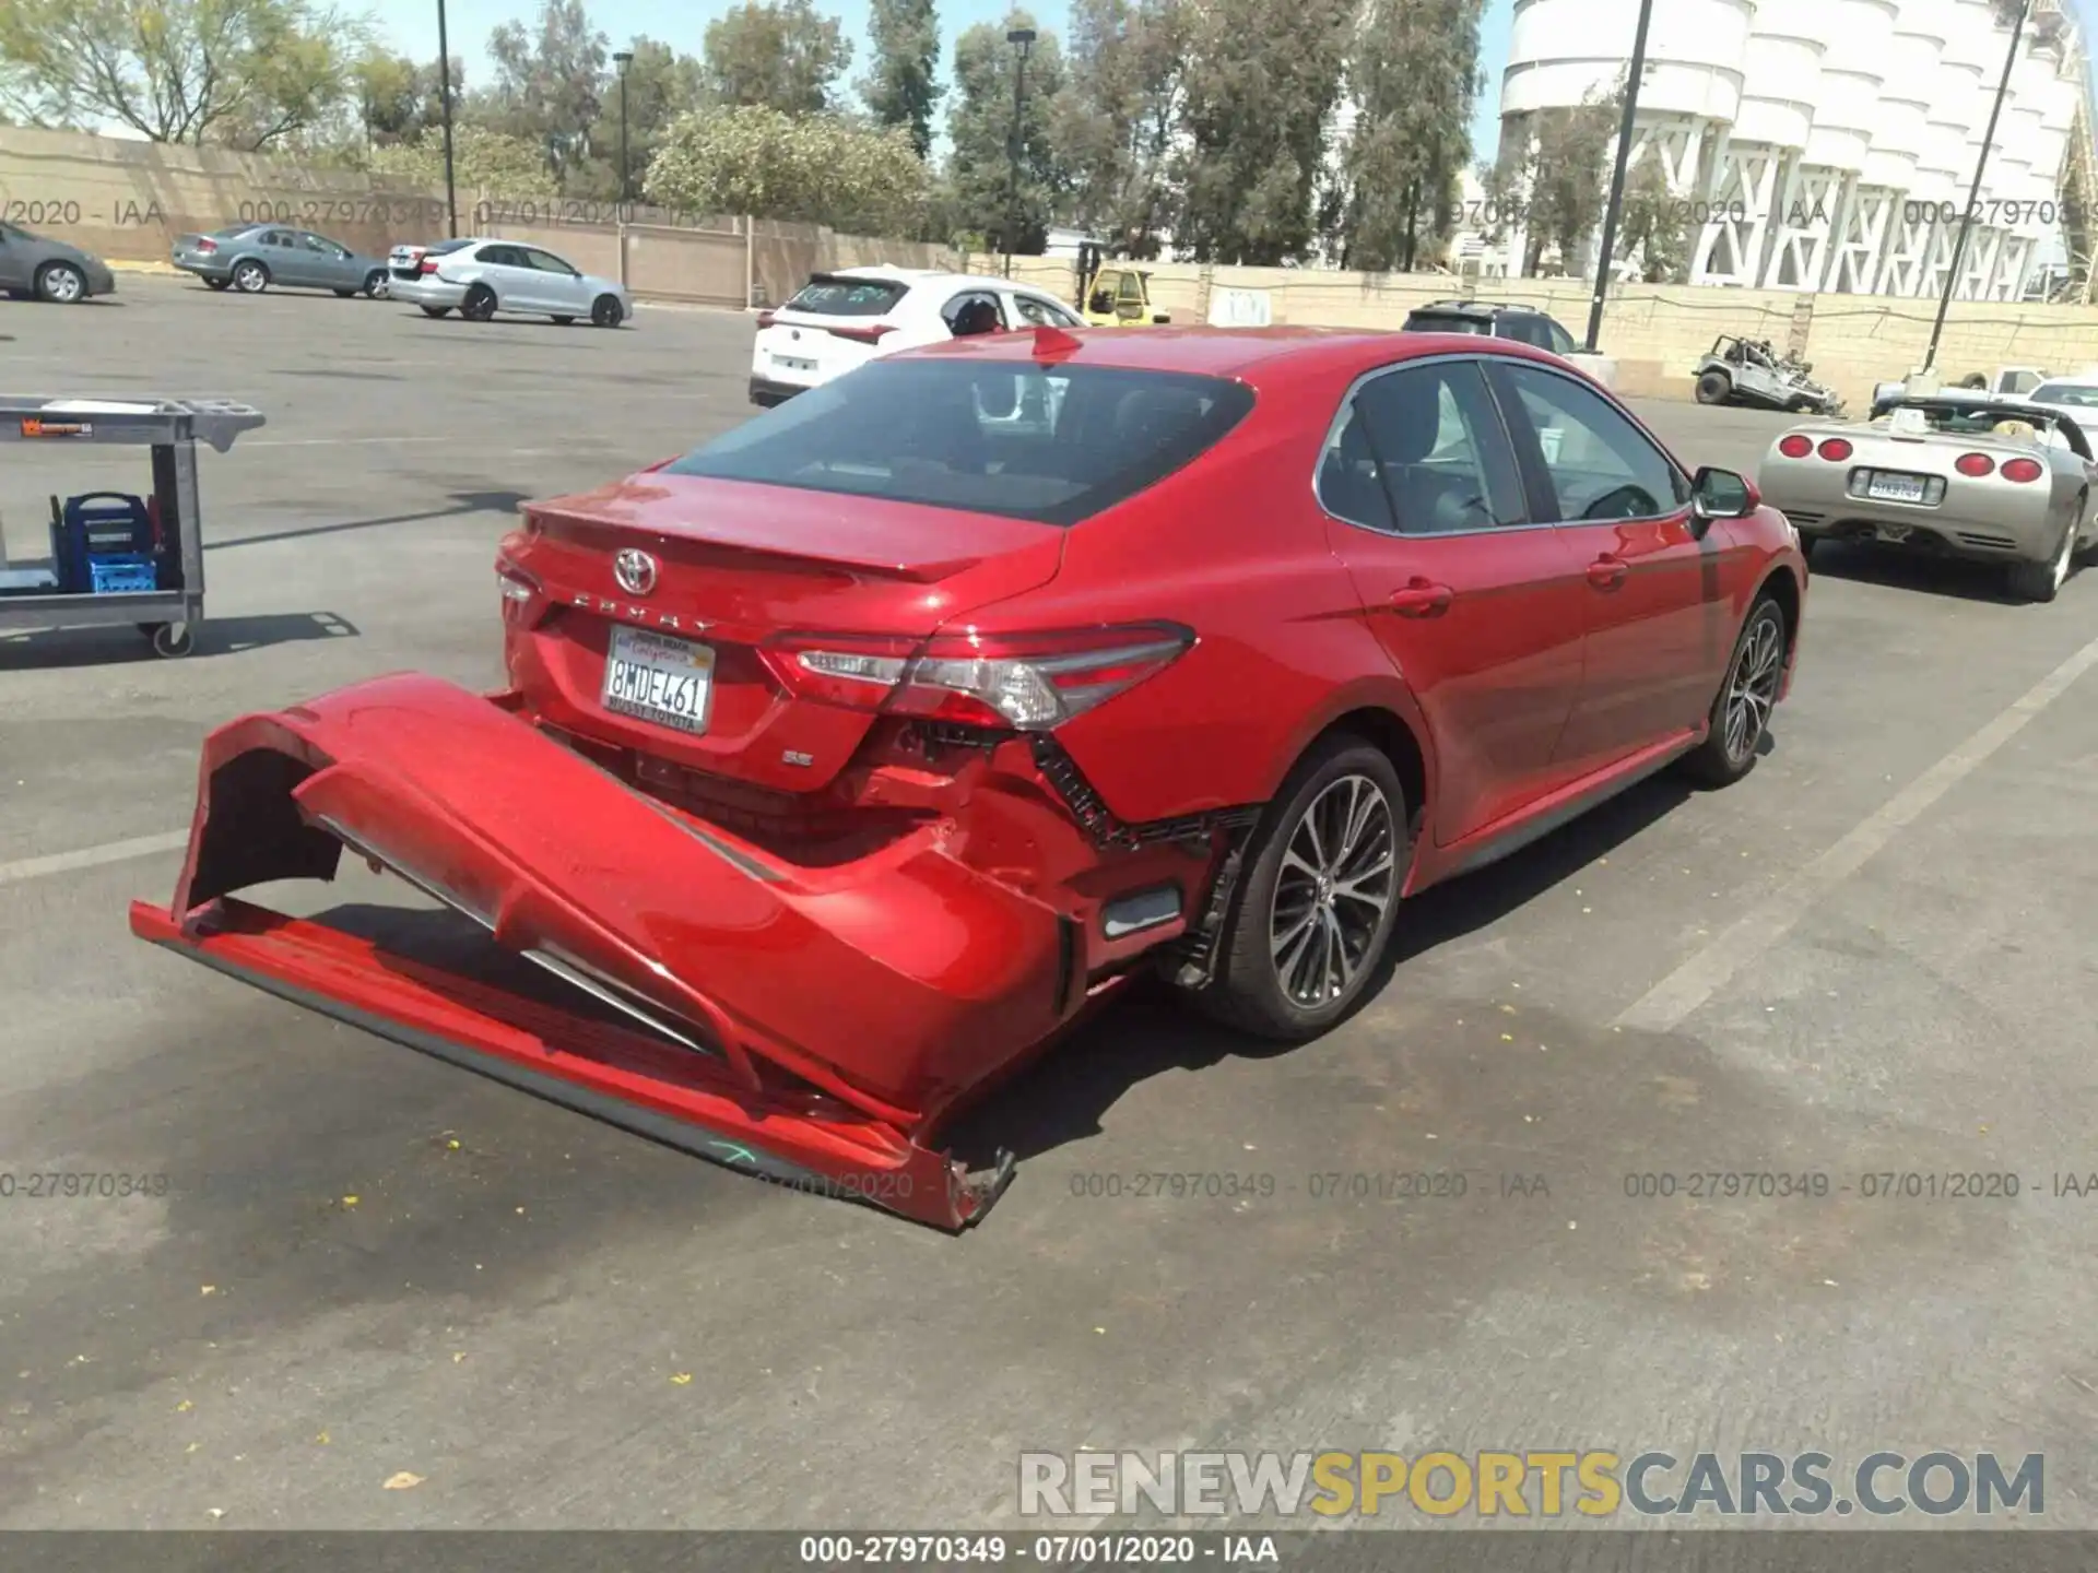
[[[1253,390],[1223,378],[871,361],[667,472],[1076,524],[1190,464],[1248,409]]]

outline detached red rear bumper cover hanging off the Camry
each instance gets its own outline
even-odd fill
[[[208,738],[174,902],[132,904],[132,931],[715,1162],[961,1229],[1011,1162],[971,1175],[927,1143],[1085,990],[1072,925],[942,835],[783,866],[478,694],[384,677]],[[331,879],[342,847],[577,1009],[231,898]]]

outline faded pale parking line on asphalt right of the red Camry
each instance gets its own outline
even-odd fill
[[[1823,896],[1863,868],[1903,826],[2010,742],[2027,721],[2069,692],[2069,686],[2094,665],[2098,665],[2098,640],[2092,640],[2041,677],[2022,698],[2014,701],[1993,721],[1974,732],[1974,736],[1886,799],[1836,845],[1756,904],[1748,917],[1722,929],[1710,944],[1668,973],[1668,977],[1641,994],[1634,1005],[1618,1015],[1615,1026],[1641,1032],[1672,1032],[1683,1026],[1735,973],[1783,940]]]

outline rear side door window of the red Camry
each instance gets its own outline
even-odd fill
[[[1401,535],[1527,522],[1500,411],[1475,361],[1427,361],[1364,382],[1320,464],[1326,510]]]

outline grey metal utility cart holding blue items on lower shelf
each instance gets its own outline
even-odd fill
[[[0,633],[132,623],[155,654],[189,654],[204,621],[197,443],[227,453],[262,424],[258,409],[224,398],[0,394],[0,443],[120,443],[153,455],[153,489],[143,497],[50,499],[50,562],[0,566]]]

